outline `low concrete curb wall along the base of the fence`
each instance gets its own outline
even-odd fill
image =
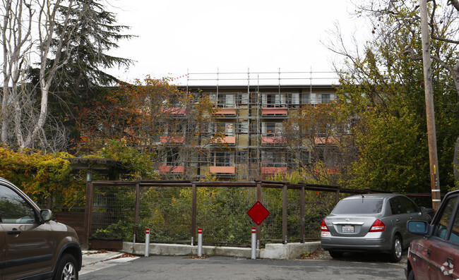
[[[266,244],[265,249],[256,250],[256,257],[273,260],[294,260],[303,252],[314,252],[320,241],[306,243]],[[145,255],[145,243],[124,242],[122,252]],[[198,246],[181,244],[150,243],[150,255],[198,255]],[[251,258],[251,248],[203,246],[203,255]]]

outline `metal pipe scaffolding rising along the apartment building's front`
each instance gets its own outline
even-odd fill
[[[215,123],[203,133],[222,136],[198,162],[198,176],[258,180],[294,165],[282,141],[281,126],[301,106],[335,99],[334,72],[188,73],[186,92],[208,95],[217,107]],[[318,83],[320,81],[321,83]],[[323,84],[325,83],[325,84]],[[305,154],[305,155],[303,155]],[[302,160],[311,155],[304,147]],[[218,168],[217,168],[218,167]],[[224,169],[227,168],[227,169]]]

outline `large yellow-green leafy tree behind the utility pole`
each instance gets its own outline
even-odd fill
[[[374,9],[379,6],[383,8]],[[455,34],[453,18],[457,17],[457,11],[446,8],[448,16],[439,16],[435,3],[433,7],[432,37]],[[374,35],[364,45],[364,51],[358,47],[350,51],[338,33],[337,40],[330,45],[330,49],[346,60],[338,91],[343,116],[357,121],[352,133],[358,157],[352,163],[353,170],[350,168],[353,179],[347,183],[428,192],[422,63],[417,57],[422,53],[417,6],[407,1],[372,1],[369,5],[362,4],[358,11],[373,24]],[[453,67],[448,66],[457,63],[458,54],[451,44],[441,39],[431,44],[440,181],[446,189],[454,184],[451,159],[459,135],[458,91]]]

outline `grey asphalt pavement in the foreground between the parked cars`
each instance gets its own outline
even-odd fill
[[[99,269],[87,279],[405,279],[403,264],[378,257],[340,260],[247,260],[237,257],[150,256]]]

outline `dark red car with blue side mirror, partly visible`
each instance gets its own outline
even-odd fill
[[[407,279],[459,279],[459,190],[446,194],[431,224],[408,221],[407,229],[424,238],[410,243]]]

